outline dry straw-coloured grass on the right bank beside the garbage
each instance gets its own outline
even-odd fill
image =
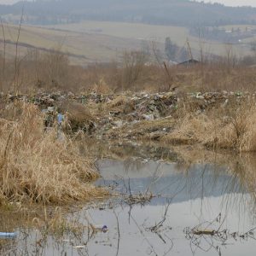
[[[129,105],[125,95],[108,102],[108,110],[125,113]],[[136,111],[133,108],[130,112]],[[236,152],[256,151],[256,101],[253,94],[228,96],[222,94],[214,102],[180,96],[177,109],[164,118],[138,119],[122,117],[119,127],[104,133],[108,138],[156,140],[172,145],[199,143],[206,148],[226,148]],[[118,118],[117,118],[118,119]]]

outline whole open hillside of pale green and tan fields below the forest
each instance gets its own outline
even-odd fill
[[[55,29],[23,25],[19,42],[41,49],[57,49],[61,45],[62,51],[73,55],[72,63],[81,65],[95,61],[112,61],[125,49],[141,49],[142,39],[148,40],[148,44],[151,45],[152,38],[156,38],[163,47],[166,37],[172,38],[179,46],[186,46],[186,39],[189,38],[192,49],[197,51],[200,49],[199,39],[189,37],[188,30],[179,26],[89,20],[79,24],[51,26],[51,28]],[[15,42],[18,26],[5,25],[5,34],[6,39]],[[2,30],[0,30],[0,38],[3,38]],[[204,52],[215,55],[225,54],[224,45],[218,42],[207,41],[202,45]],[[0,44],[0,50],[1,47],[3,46]],[[14,55],[14,48],[14,45],[9,45],[9,55]],[[233,49],[238,55],[248,54],[247,49],[241,49],[238,45]],[[25,54],[26,50],[26,47],[20,47],[20,55]]]

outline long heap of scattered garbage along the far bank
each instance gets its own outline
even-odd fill
[[[183,96],[173,92],[165,93],[124,93],[101,95],[92,92],[84,95],[73,93],[38,93],[35,95],[0,96],[0,103],[31,102],[46,115],[50,126],[55,119],[61,123],[69,120],[71,131],[83,130],[90,135],[102,136],[106,131],[120,129],[124,125],[136,125],[144,120],[154,121],[172,117],[184,102],[193,106],[193,111],[203,112],[216,104],[225,107],[232,100],[255,98],[254,94],[241,92],[196,92]],[[4,108],[4,104],[0,104]],[[54,114],[54,118],[52,115]],[[60,118],[61,117],[61,118]],[[155,128],[168,132],[170,127]],[[162,132],[161,131],[161,132]]]

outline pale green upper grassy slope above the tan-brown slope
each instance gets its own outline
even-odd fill
[[[104,34],[108,36],[130,39],[144,39],[148,41],[152,41],[152,38],[156,38],[161,43],[165,42],[166,37],[170,37],[173,42],[181,47],[186,46],[186,40],[189,38],[191,47],[196,50],[200,49],[199,39],[189,36],[189,30],[182,26],[157,26],[141,23],[85,20],[82,23],[49,27],[72,32],[97,32],[98,34],[102,35]],[[236,49],[237,53],[241,54],[241,48],[238,45],[234,48]],[[205,52],[215,55],[225,54],[224,45],[216,41],[205,41],[203,44],[203,49]]]

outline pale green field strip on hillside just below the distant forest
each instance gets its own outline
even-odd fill
[[[226,45],[215,39],[198,38],[198,35],[191,35],[188,28],[184,26],[162,26],[148,25],[142,23],[112,22],[84,20],[73,24],[60,24],[46,26],[61,31],[93,33],[94,35],[108,35],[110,37],[125,38],[127,40],[139,40],[141,45],[146,42],[152,46],[152,42],[159,42],[162,47],[167,37],[179,47],[187,47],[187,39],[196,57],[201,50],[207,55],[225,55]],[[232,48],[239,55],[249,54],[250,44],[234,43]]]

